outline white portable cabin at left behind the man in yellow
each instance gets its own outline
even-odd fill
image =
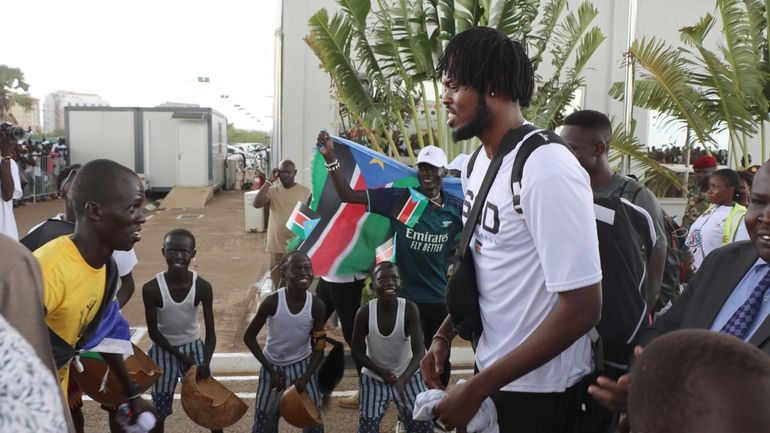
[[[224,185],[227,119],[198,107],[66,107],[70,163],[108,158],[153,191]]]

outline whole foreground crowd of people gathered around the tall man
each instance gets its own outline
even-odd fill
[[[519,42],[468,29],[449,41],[438,73],[453,139],[482,143],[460,169],[461,200],[444,188],[448,164],[437,147],[418,154],[419,186],[357,190],[329,134],[318,136],[334,186],[325,193],[386,217],[395,261],[375,263],[368,276],[324,275],[312,293],[313,263],[287,251],[285,227],[309,189],[286,160],[259,190],[253,205],[270,209],[266,253],[277,290],[243,336],[261,364],[252,431],[278,431],[286,388],[320,405],[331,311],[357,367],[359,391],[345,403],[358,409],[362,433],[379,431],[391,401],[407,432],[767,431],[770,164],[739,175],[698,155],[677,227],[650,190],[612,170],[605,114],[571,113],[561,136],[527,122],[521,109],[535,79]],[[0,140],[7,203],[17,191],[15,143]],[[119,309],[130,294],[118,281],[133,265],[125,273],[114,254],[141,240],[141,182],[95,160],[68,168],[58,188],[65,214],[45,236],[43,226],[33,230],[33,255],[0,236],[0,427],[82,431],[82,390],[71,376],[80,351],[93,349],[117,377],[131,422],[149,411],[162,432],[178,381],[191,368],[209,377],[216,348],[215,292],[190,269],[195,236],[166,234],[167,267],[142,288],[149,355],[163,369],[150,404],[122,352],[99,349],[96,335],[110,314],[116,329],[125,322]],[[421,202],[417,217],[394,212],[405,198]],[[374,299],[360,305],[365,278]],[[471,340],[475,374],[452,383],[458,337]],[[23,375],[19,365],[28,366]],[[103,407],[121,431],[117,407]]]

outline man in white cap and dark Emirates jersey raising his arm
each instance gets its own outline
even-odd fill
[[[447,315],[445,304],[448,257],[462,230],[462,201],[442,188],[447,158],[436,146],[426,146],[417,156],[417,188],[354,190],[339,172],[340,162],[326,131],[318,136],[319,152],[334,187],[345,203],[366,205],[367,211],[389,219],[395,237],[396,264],[401,270],[401,296],[417,304],[430,346],[433,334]],[[321,146],[321,144],[323,144]],[[442,376],[449,381],[449,361]]]

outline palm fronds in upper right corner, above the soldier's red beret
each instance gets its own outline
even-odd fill
[[[761,158],[767,159],[765,121],[768,120],[770,66],[768,16],[759,0],[716,0],[723,39],[715,52],[704,40],[716,19],[706,14],[698,23],[679,30],[684,47],[658,38],[642,38],[628,51],[627,61],[644,71],[634,84],[635,106],[667,115],[686,128],[691,140],[706,149],[715,134],[727,131],[735,167],[748,165],[748,141],[761,136]],[[623,98],[622,83],[610,95]],[[654,164],[648,166],[660,172]]]

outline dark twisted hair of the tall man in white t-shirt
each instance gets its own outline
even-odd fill
[[[532,62],[521,43],[489,27],[471,27],[453,37],[436,72],[482,95],[504,93],[521,107],[529,106],[535,88]]]

